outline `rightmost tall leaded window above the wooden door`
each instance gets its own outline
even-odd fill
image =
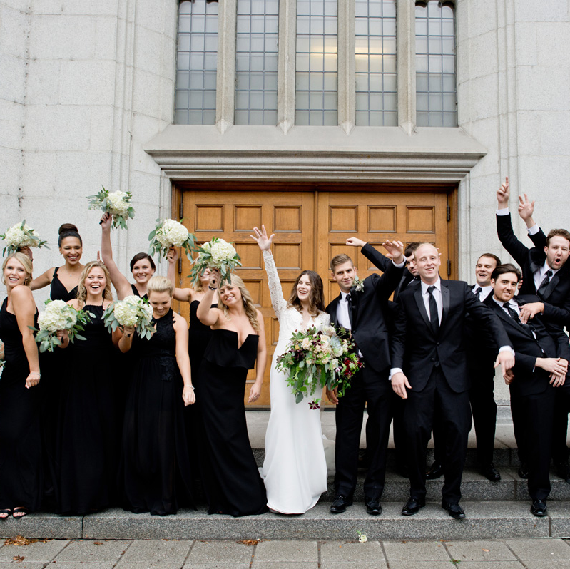
[[[452,4],[416,2],[418,126],[457,126],[455,15]]]

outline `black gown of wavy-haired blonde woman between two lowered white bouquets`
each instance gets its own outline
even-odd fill
[[[55,441],[55,490],[58,513],[88,513],[116,498],[118,427],[116,425],[116,348],[103,323],[103,307],[86,304],[93,314],[81,335],[66,348]]]

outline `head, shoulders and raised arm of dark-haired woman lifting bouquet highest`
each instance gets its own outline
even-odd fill
[[[111,222],[113,217],[108,213],[101,216],[101,259],[105,263],[111,275],[111,282],[117,292],[117,298],[123,300],[131,294],[137,297],[148,298],[148,281],[156,271],[153,257],[146,253],[137,253],[131,259],[131,272],[135,284],[132,285],[123,273],[118,270],[116,262],[113,260],[113,247],[111,247]]]

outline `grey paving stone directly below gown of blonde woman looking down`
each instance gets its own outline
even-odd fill
[[[190,540],[136,540],[126,550],[119,561],[117,568],[125,565],[137,565],[139,569],[144,566],[173,565],[182,567],[188,556]]]

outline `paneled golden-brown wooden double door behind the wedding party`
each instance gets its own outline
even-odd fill
[[[336,189],[336,188],[335,188]],[[387,240],[432,242],[442,254],[442,277],[447,277],[448,263],[454,258],[454,231],[449,212],[453,210],[454,188],[439,191],[359,191],[354,187],[340,191],[324,188],[299,190],[257,188],[243,190],[208,189],[207,186],[176,190],[173,213],[193,232],[198,243],[212,237],[233,242],[243,267],[243,278],[253,300],[265,319],[268,366],[260,400],[255,406],[269,406],[270,362],[278,341],[279,324],[273,314],[263,266],[263,255],[250,238],[253,227],[265,225],[275,233],[273,256],[285,299],[301,270],[316,270],[325,283],[325,304],[339,294],[330,278],[330,260],[347,253],[355,261],[358,275],[364,279],[376,271],[360,250],[345,245],[347,237],[357,236],[376,247]],[[189,286],[190,262],[183,256],[180,286]],[[451,270],[450,274],[454,271]],[[188,318],[188,304],[180,306]],[[255,379],[250,372],[248,381]],[[246,400],[248,396],[246,389]]]

